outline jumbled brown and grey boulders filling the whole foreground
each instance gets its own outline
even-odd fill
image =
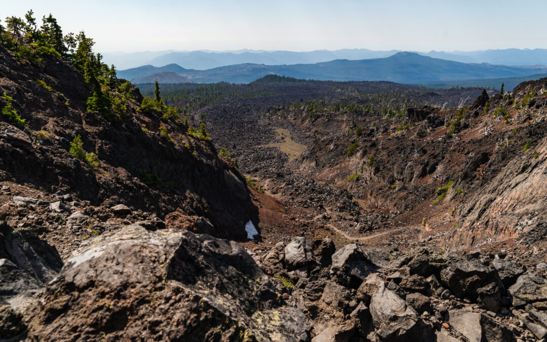
[[[408,252],[330,239],[246,250],[104,209],[108,229],[56,248],[11,225],[81,229],[86,203],[15,196],[3,213],[0,329],[8,340],[534,341],[547,336],[547,264],[501,251]],[[34,201],[33,201],[34,200]],[[48,204],[46,206],[46,204]],[[4,205],[5,207],[5,205]],[[64,209],[63,209],[64,208]],[[26,218],[26,219],[25,219]],[[55,219],[57,223],[54,223]],[[198,229],[199,220],[185,227]],[[170,224],[167,224],[168,227]],[[107,228],[108,227],[108,228]],[[61,228],[61,227],[60,227]],[[54,243],[52,241],[52,243]],[[63,245],[63,244],[61,244]]]

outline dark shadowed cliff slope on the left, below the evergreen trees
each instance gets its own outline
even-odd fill
[[[49,57],[30,65],[0,49],[0,93],[13,97],[12,107],[27,123],[19,130],[0,122],[0,180],[161,218],[181,208],[208,218],[213,235],[244,238],[245,223],[258,221],[245,177],[178,121],[137,111],[142,96],[133,86],[130,91],[129,115],[108,123],[85,110],[90,88],[69,63]],[[77,135],[100,166],[68,152]]]

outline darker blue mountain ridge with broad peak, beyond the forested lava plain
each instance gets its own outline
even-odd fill
[[[385,58],[334,60],[295,65],[237,64],[207,70],[186,69],[176,64],[162,67],[142,66],[118,72],[121,78],[162,82],[162,73],[174,73],[196,83],[249,83],[267,74],[316,80],[384,80],[418,84],[462,79],[521,77],[547,73],[547,67],[462,63],[401,52]],[[171,75],[172,76],[172,75]],[[166,82],[164,82],[166,83]]]

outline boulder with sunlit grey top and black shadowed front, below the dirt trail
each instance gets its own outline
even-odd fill
[[[375,273],[376,269],[363,251],[357,245],[351,244],[333,254],[330,275],[336,282],[357,289],[366,276]]]

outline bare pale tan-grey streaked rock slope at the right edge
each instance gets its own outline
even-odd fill
[[[537,154],[536,154],[537,153]],[[467,201],[460,228],[451,231],[450,250],[519,237],[547,219],[547,138],[511,160]],[[540,158],[539,156],[543,156]]]

